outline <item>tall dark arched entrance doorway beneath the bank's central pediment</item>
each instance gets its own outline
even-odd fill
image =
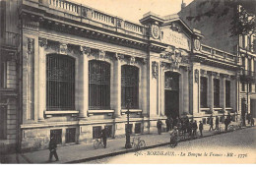
[[[164,73],[164,113],[175,119],[179,116],[179,74]]]

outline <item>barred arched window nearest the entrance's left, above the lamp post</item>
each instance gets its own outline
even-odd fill
[[[139,108],[139,69],[135,66],[122,66],[122,108],[127,107],[127,99],[131,108]]]

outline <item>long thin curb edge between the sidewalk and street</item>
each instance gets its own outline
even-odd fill
[[[237,129],[234,131],[238,131],[238,130],[243,130],[243,129],[248,129],[248,128],[252,128],[252,127],[243,127],[241,129]],[[222,135],[222,134],[226,134],[226,133],[231,133],[234,131],[224,131],[221,133],[215,133],[209,136],[203,136],[201,138],[196,138],[196,139],[184,139],[184,140],[180,140],[179,142],[187,142],[187,141],[192,141],[192,140],[199,140],[199,139],[203,139],[203,138],[207,138],[207,137],[213,137],[213,136],[217,136],[217,135]],[[149,149],[149,148],[155,148],[155,147],[160,147],[163,145],[167,145],[169,144],[169,142],[164,142],[164,143],[160,143],[160,144],[155,144],[155,145],[149,145],[149,146],[145,146],[140,150],[145,150],[145,149]],[[102,155],[97,155],[97,156],[93,156],[93,157],[88,157],[88,158],[83,158],[83,159],[78,159],[78,160],[72,160],[72,161],[68,161],[68,162],[64,162],[64,164],[71,164],[71,163],[82,163],[82,162],[87,162],[87,161],[91,161],[91,160],[96,160],[96,159],[101,159],[104,157],[110,157],[110,156],[116,156],[119,154],[124,154],[124,153],[129,153],[129,152],[133,152],[133,151],[137,151],[136,148],[131,148],[131,149],[126,149],[126,150],[121,150],[121,151],[116,151],[116,152],[112,152],[112,153],[107,153],[107,154],[102,154]]]

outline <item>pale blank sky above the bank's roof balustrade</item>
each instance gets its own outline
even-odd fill
[[[107,14],[118,16],[126,21],[139,23],[148,12],[160,16],[176,14],[182,0],[73,0]],[[188,5],[193,0],[183,0]]]

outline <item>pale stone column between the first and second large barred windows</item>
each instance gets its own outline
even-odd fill
[[[83,53],[82,56],[82,74],[81,74],[81,79],[82,79],[82,87],[83,87],[83,94],[82,94],[82,103],[80,104],[80,119],[85,119],[87,118],[87,112],[89,109],[89,66],[88,66],[88,56],[91,53],[91,48],[81,46],[81,51]]]

